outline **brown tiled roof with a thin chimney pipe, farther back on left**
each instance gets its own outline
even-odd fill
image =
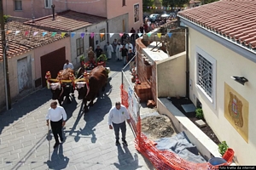
[[[107,18],[67,10],[65,12],[55,14],[55,20],[53,20],[53,15],[51,14],[34,20],[34,23],[30,20],[25,22],[25,24],[40,26],[44,29],[51,29],[55,31],[76,31],[80,28],[91,26],[104,20],[107,20]]]

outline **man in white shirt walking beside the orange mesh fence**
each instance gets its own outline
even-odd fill
[[[119,145],[119,129],[122,132],[122,141],[125,146],[127,146],[127,142],[125,140],[126,136],[126,123],[130,123],[130,116],[124,105],[121,105],[120,102],[116,102],[115,105],[110,109],[108,115],[108,125],[109,129],[114,130],[116,145]]]

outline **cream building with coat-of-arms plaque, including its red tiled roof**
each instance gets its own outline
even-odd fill
[[[189,27],[189,98],[239,165],[256,159],[255,1],[223,0],[178,13]]]

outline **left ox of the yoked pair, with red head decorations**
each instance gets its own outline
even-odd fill
[[[57,79],[69,80],[73,77],[73,70],[67,69],[59,71]],[[52,99],[57,99],[59,104],[62,105],[64,97],[67,99],[67,104],[71,103],[69,94],[73,93],[73,85],[71,82],[53,82],[49,84],[50,91],[52,93]]]

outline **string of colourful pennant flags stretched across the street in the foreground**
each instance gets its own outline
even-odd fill
[[[15,33],[15,36],[17,36],[20,31],[6,31],[6,34],[9,35],[10,33],[14,32]],[[28,34],[30,33],[30,31],[24,31],[23,34],[25,36],[27,36]],[[74,37],[75,35],[77,34],[80,34],[80,37],[84,38],[84,36],[87,36],[87,35],[90,35],[91,38],[95,37],[96,35],[100,35],[100,37],[104,37],[105,35],[108,35],[109,34],[109,37],[113,37],[114,34],[117,34],[117,33],[95,33],[95,32],[61,32],[61,37],[64,37],[67,33],[70,33],[70,36],[71,37]],[[179,32],[175,32],[175,33],[179,33]],[[183,32],[181,32],[183,33]],[[44,37],[45,35],[49,34],[47,31],[44,31],[42,32],[42,37]],[[50,37],[55,37],[56,34],[60,34],[58,32],[51,32],[51,36]],[[119,34],[119,37],[123,37],[125,33],[118,33]],[[132,34],[134,33],[127,33],[129,35],[129,37],[131,37]],[[143,33],[135,33],[138,35],[138,37],[142,37],[143,36]],[[148,37],[151,36],[151,32],[148,32],[146,33]],[[38,35],[38,31],[34,31],[32,33],[32,35],[35,37]],[[169,32],[167,33],[168,37],[172,37],[172,32]],[[162,34],[161,33],[157,33],[157,37],[161,37]]]

